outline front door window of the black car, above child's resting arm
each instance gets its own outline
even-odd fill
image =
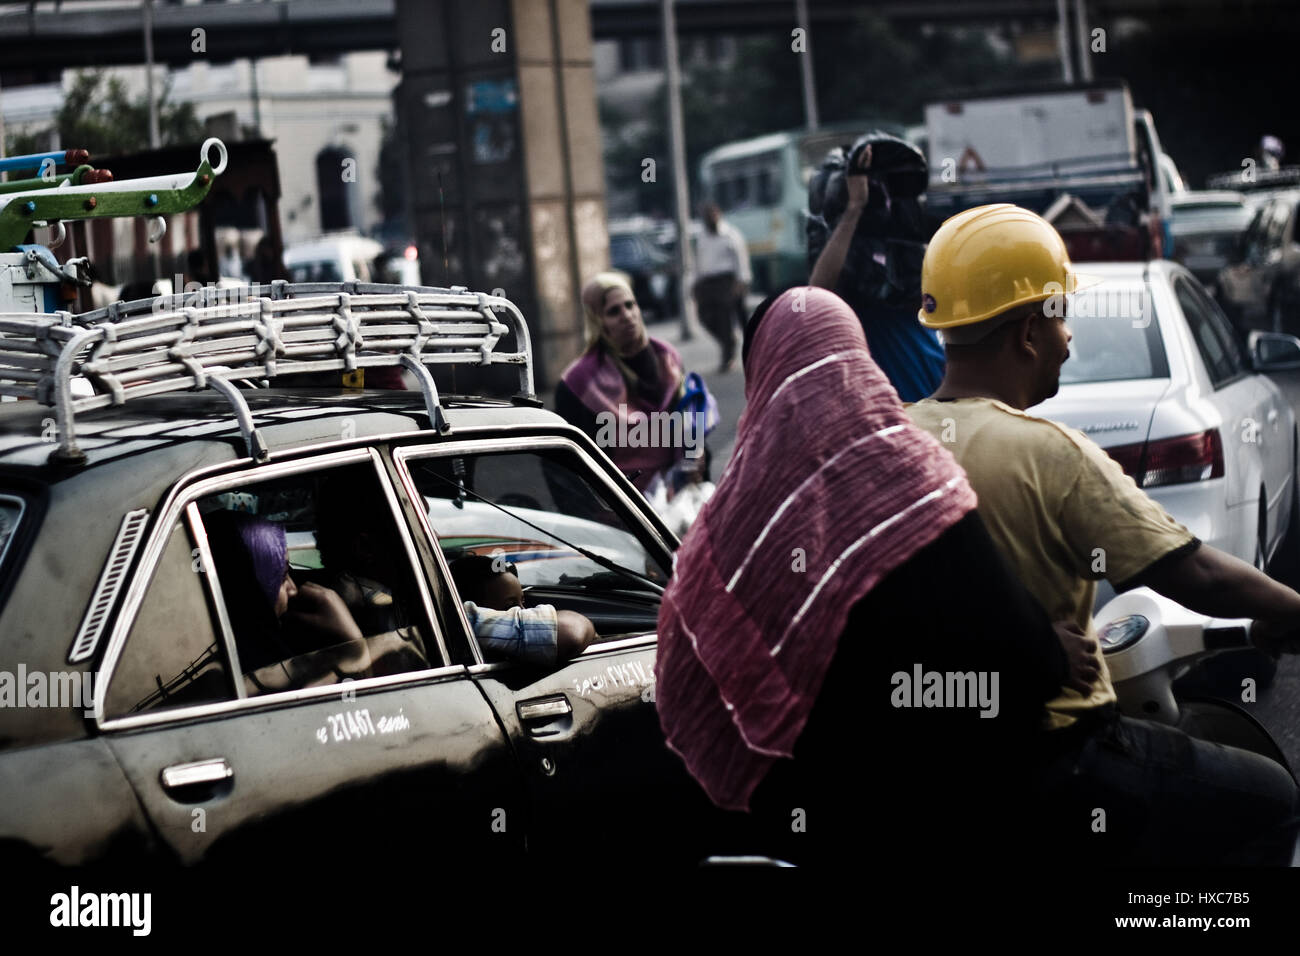
[[[447,563],[486,555],[512,564],[529,606],[563,604],[537,601],[529,593],[534,589],[615,601],[633,594],[644,607],[658,601],[658,591],[638,575],[667,584],[671,568],[641,538],[644,529],[590,480],[572,451],[411,458],[408,467]],[[625,571],[602,566],[584,550]],[[601,631],[602,639],[611,635]]]

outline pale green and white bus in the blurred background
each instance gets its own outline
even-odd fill
[[[897,124],[861,120],[822,126],[812,133],[803,129],[770,133],[705,153],[699,161],[703,196],[718,203],[727,221],[745,237],[755,293],[768,294],[807,281],[803,228],[809,178],[829,150],[850,144],[874,129],[904,135]]]

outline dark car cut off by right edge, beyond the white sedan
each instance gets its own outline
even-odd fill
[[[1300,328],[1300,190],[1271,194],[1254,209],[1236,261],[1218,273],[1223,311],[1238,330]]]

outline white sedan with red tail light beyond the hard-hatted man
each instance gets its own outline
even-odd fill
[[[1030,412],[1080,429],[1199,538],[1266,567],[1296,514],[1296,421],[1260,373],[1300,367],[1300,341],[1242,343],[1171,261],[1078,269],[1101,282],[1069,297],[1061,392]]]

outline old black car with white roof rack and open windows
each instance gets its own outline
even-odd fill
[[[655,714],[676,541],[536,402],[511,303],[276,284],[233,304],[3,316],[0,333],[0,384],[39,399],[0,406],[10,871],[742,849]],[[454,364],[504,365],[517,392],[439,395],[429,371]],[[396,365],[421,389],[278,388]],[[368,631],[367,661],[309,682],[274,653],[273,679],[240,665],[209,542],[224,511],[282,524],[299,587],[347,570],[326,529],[364,533],[385,555],[393,633]],[[467,553],[515,563],[529,605],[588,615],[598,641],[550,669],[485,661],[448,575]]]

